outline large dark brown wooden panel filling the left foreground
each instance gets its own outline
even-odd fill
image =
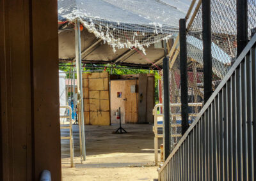
[[[0,2],[0,180],[61,180],[57,3]]]

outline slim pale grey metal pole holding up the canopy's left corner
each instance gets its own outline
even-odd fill
[[[84,135],[84,104],[83,104],[83,82],[82,82],[82,73],[81,73],[81,36],[80,36],[80,22],[76,20],[76,71],[77,71],[77,102],[79,101],[80,105],[80,117],[81,117],[81,134],[82,134],[82,154],[83,160],[85,161],[85,135]]]

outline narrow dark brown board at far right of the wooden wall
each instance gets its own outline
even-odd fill
[[[148,76],[147,81],[147,122],[154,122],[152,110],[155,106],[155,78]]]

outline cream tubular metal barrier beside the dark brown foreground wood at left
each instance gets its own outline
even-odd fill
[[[70,106],[60,106],[60,108],[66,108],[68,115],[60,115],[60,119],[66,118],[69,120],[68,126],[61,126],[60,129],[69,129],[69,136],[61,136],[61,140],[69,140],[70,147],[70,166],[74,167],[74,142],[72,131],[72,108]]]

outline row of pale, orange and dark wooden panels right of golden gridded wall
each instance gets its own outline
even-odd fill
[[[115,117],[118,107],[121,107],[122,123],[154,122],[154,74],[111,75],[111,78],[111,123],[119,121]],[[131,85],[138,86],[136,93],[131,93]],[[122,92],[122,98],[117,98],[116,92]]]

